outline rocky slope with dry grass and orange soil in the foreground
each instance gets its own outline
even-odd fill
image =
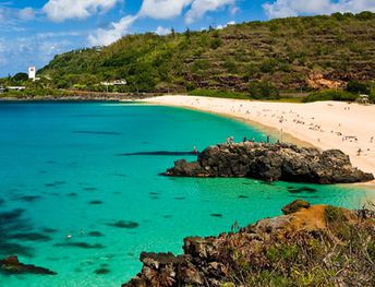
[[[283,213],[185,238],[183,255],[144,252],[142,272],[123,287],[375,286],[373,212],[295,201]]]

